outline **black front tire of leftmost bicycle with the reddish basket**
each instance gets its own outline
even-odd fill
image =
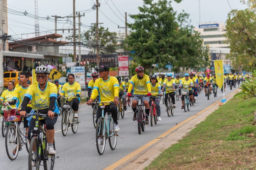
[[[9,134],[11,133],[11,130],[13,130],[13,134],[11,134],[11,136],[13,137],[17,137],[14,140],[11,140],[9,137]],[[10,133],[9,133],[10,131]],[[16,134],[16,126],[14,124],[10,124],[6,130],[6,135],[5,135],[5,149],[6,149],[6,153],[7,156],[9,157],[9,159],[14,160],[16,159],[16,157],[18,156],[18,152],[19,152],[19,142],[20,142],[20,136],[19,135],[15,135]],[[10,142],[11,140],[11,142]],[[17,141],[17,142],[14,142]],[[14,144],[13,147],[9,148],[8,146],[10,146],[11,144]],[[13,150],[16,149],[16,154],[13,155]]]

